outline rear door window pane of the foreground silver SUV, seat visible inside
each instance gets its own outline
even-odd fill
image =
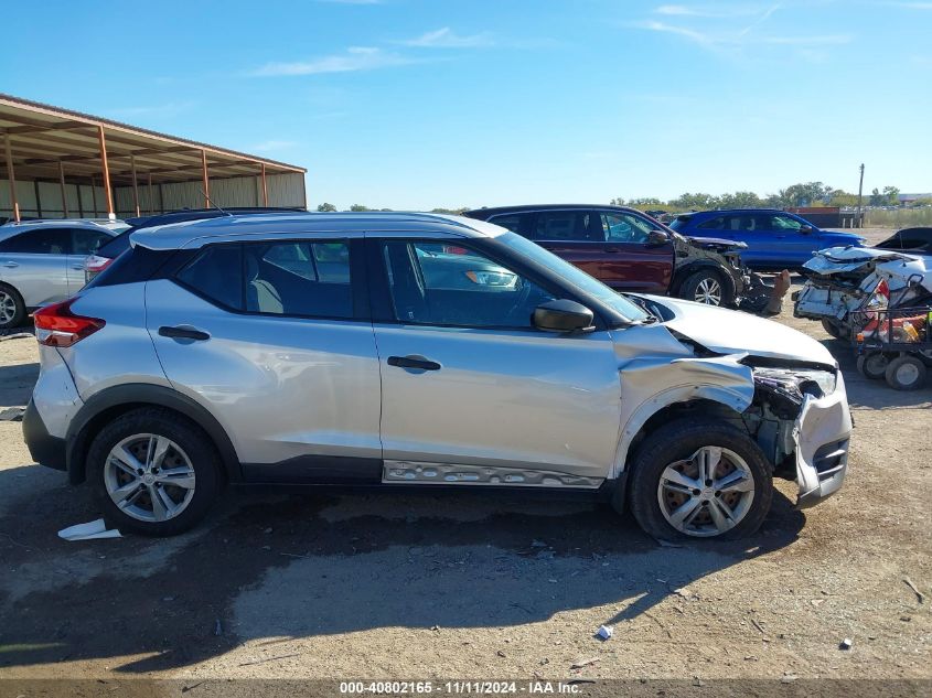
[[[347,240],[250,244],[244,255],[247,311],[353,318]]]

